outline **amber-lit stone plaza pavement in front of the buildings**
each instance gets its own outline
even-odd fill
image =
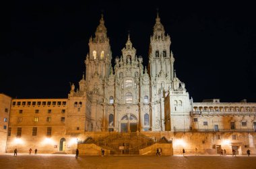
[[[0,168],[256,168],[256,156],[79,156],[0,154]]]

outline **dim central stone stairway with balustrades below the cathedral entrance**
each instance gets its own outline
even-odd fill
[[[154,140],[139,132],[135,133],[110,133],[106,137],[87,139],[84,144],[96,144],[110,150],[111,155],[134,155],[139,150],[155,144]]]

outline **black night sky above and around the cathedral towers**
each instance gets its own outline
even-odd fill
[[[168,3],[166,3],[168,2]],[[174,69],[195,102],[256,102],[256,23],[249,3],[185,1],[10,1],[1,5],[0,93],[67,98],[85,71],[101,11],[113,58],[130,31],[148,66],[156,8],[171,38]]]

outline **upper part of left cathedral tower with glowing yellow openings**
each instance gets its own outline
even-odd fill
[[[86,56],[86,81],[94,75],[102,80],[108,78],[111,69],[112,52],[110,50],[109,38],[106,35],[103,15],[100,25],[96,28],[95,37],[89,40],[90,52]]]

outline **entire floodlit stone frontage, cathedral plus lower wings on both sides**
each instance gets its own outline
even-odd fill
[[[174,72],[170,36],[156,17],[150,37],[148,69],[136,55],[130,36],[122,56],[112,52],[103,17],[90,38],[86,74],[71,85],[67,99],[12,99],[7,152],[30,147],[40,152],[73,153],[76,143],[109,131],[141,132],[173,141],[174,154],[185,148],[216,154],[232,148],[255,153],[256,103],[193,103]],[[11,106],[10,106],[11,105]],[[0,112],[1,113],[1,112]]]

